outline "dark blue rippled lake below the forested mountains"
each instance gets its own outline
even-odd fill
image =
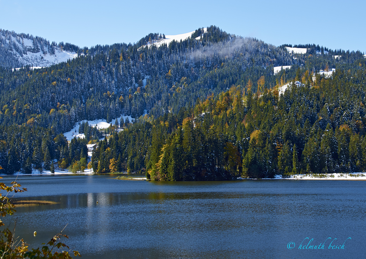
[[[59,204],[19,207],[4,222],[18,217],[16,235],[31,247],[47,243],[68,224],[64,243],[83,258],[366,254],[365,181],[155,182],[113,177],[19,176],[28,191],[16,198]],[[14,178],[2,180],[9,184]]]

